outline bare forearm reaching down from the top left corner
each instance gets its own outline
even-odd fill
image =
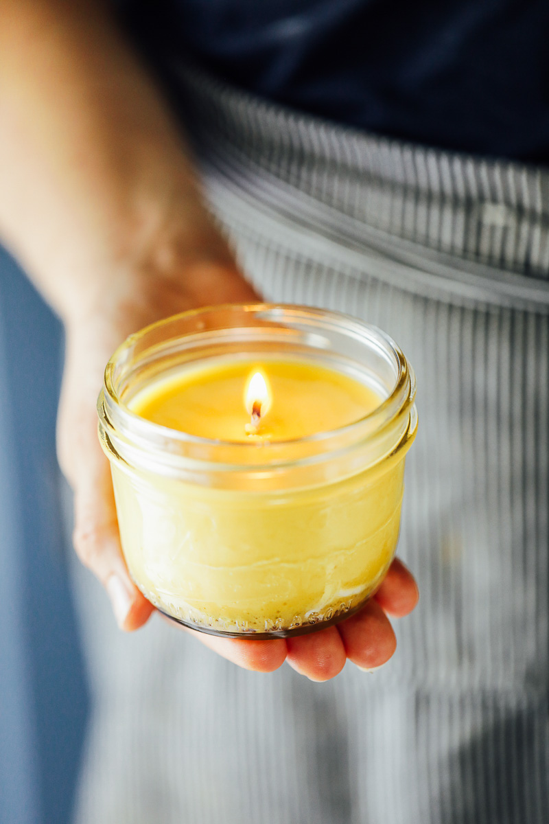
[[[127,279],[233,265],[159,92],[95,3],[0,0],[0,236],[63,319]]]

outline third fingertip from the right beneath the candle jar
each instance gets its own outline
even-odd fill
[[[287,662],[311,681],[328,681],[345,666],[345,648],[335,626],[286,639]]]

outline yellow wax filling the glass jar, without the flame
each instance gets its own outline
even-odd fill
[[[249,435],[245,391],[271,393]],[[316,363],[251,360],[186,368],[129,402],[202,438],[284,442],[351,424],[379,405],[368,386]],[[216,489],[112,463],[123,552],[142,592],[191,625],[298,630],[345,616],[379,585],[398,539],[404,460],[305,489]]]

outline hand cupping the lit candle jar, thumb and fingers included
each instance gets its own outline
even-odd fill
[[[115,284],[116,281],[113,281]],[[121,280],[123,284],[123,279]],[[123,285],[105,296],[103,311],[91,311],[67,325],[67,362],[58,417],[59,461],[74,489],[77,554],[104,584],[121,628],[136,630],[154,607],[128,575],[119,544],[109,463],[97,439],[95,402],[110,355],[131,332],[178,311],[211,302],[255,301],[258,296],[238,271],[194,265],[180,279],[156,278]],[[396,640],[388,615],[405,616],[418,599],[416,583],[395,560],[370,602],[355,616],[327,630],[272,641],[222,639],[191,632],[224,658],[250,670],[272,672],[285,660],[296,672],[326,681],[347,658],[358,667],[379,667],[393,655]]]

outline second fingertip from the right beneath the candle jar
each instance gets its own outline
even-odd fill
[[[388,617],[375,601],[337,625],[347,658],[362,669],[380,667],[397,648]]]

